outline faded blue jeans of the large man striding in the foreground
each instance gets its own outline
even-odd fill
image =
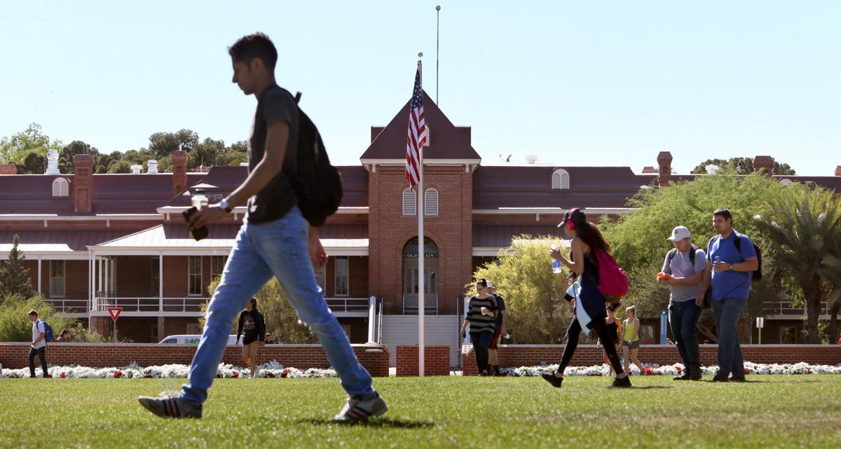
[[[315,282],[307,250],[309,225],[296,207],[283,218],[260,225],[242,225],[230,251],[219,287],[207,311],[202,339],[190,366],[188,385],[180,396],[204,403],[216,377],[236,314],[272,276],[278,277],[300,320],[315,334],[347,394],[373,394],[371,375],[359,364],[351,342],[327,309]]]

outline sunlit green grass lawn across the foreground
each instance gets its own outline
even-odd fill
[[[0,447],[841,447],[841,377],[749,379],[377,379],[369,425],[328,421],[336,379],[217,379],[202,420],[140,407],[159,379],[3,379]]]

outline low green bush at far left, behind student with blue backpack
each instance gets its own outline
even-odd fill
[[[0,305],[0,341],[32,341],[32,322],[27,316],[32,309],[38,311],[38,318],[50,323],[56,337],[62,329],[71,329],[76,323],[75,319],[57,314],[40,295],[27,298],[15,294]]]

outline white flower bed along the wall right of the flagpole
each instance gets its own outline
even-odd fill
[[[547,365],[545,367],[519,367],[519,368],[502,368],[508,376],[512,377],[532,377],[540,376],[543,373],[552,373],[558,369],[558,364]],[[643,363],[643,371],[646,375],[651,376],[680,376],[683,374],[685,367],[682,363],[675,363],[674,365],[665,365],[663,367],[656,364]],[[705,375],[712,376],[718,372],[717,366],[701,367],[701,371]],[[608,365],[595,365],[592,367],[567,367],[564,370],[564,376],[609,376],[611,368]],[[838,365],[810,365],[807,362],[800,363],[785,363],[782,365],[751,363],[744,362],[744,372],[748,375],[756,374],[841,374],[841,363]],[[638,376],[640,374],[639,368],[631,365],[631,374]]]

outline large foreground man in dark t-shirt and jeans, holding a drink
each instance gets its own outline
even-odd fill
[[[324,346],[349,396],[333,420],[359,422],[383,415],[388,409],[385,401],[373,389],[371,375],[357,360],[315,281],[313,266],[322,267],[327,256],[316,229],[301,214],[290,182],[294,176],[290,164],[294,166],[298,149],[299,110],[292,95],[275,82],[278,51],[265,34],[257,33],[237,40],[228,52],[234,68],[232,82],[257,98],[248,140],[249,174],[228,198],[193,214],[188,226],[197,230],[246,203],[248,214],[210,301],[188,385],[177,395],[141,397],[140,404],[165,418],[200,418],[231,321],[275,276],[300,320]]]

